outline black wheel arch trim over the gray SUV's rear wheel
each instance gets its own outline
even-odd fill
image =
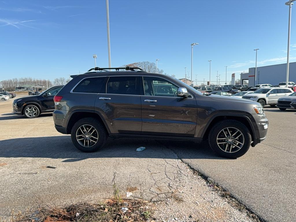
[[[70,134],[71,129],[74,126],[74,124],[83,118],[92,117],[97,119],[106,129],[107,133],[110,134],[110,129],[107,126],[107,123],[105,122],[104,118],[99,112],[95,112],[93,110],[75,110],[71,112],[71,115],[68,118],[68,122],[66,125],[66,133]]]

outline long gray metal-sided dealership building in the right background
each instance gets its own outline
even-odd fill
[[[287,63],[257,67],[257,84],[271,84],[277,86],[280,82],[286,82]],[[241,84],[254,86],[255,67],[249,68],[249,73],[241,73]],[[296,62],[290,62],[289,82],[296,82]]]

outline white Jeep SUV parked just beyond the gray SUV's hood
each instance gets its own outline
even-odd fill
[[[279,98],[289,96],[291,93],[293,90],[289,88],[270,87],[257,89],[253,94],[245,95],[242,98],[259,102],[262,107],[265,105],[276,106]]]

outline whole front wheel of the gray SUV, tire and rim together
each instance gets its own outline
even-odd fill
[[[237,120],[223,120],[210,131],[209,144],[212,150],[225,158],[244,155],[251,145],[249,129]]]

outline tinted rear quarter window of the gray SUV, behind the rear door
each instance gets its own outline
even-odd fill
[[[93,77],[83,79],[73,92],[80,93],[99,93],[106,77]]]

